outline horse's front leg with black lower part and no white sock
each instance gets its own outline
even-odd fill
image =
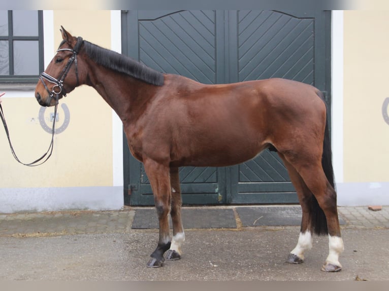
[[[169,166],[157,163],[153,160],[144,160],[146,174],[150,180],[154,195],[155,208],[159,221],[159,240],[147,267],[161,267],[165,261],[164,253],[170,248],[169,213],[171,201],[171,187],[169,178]]]

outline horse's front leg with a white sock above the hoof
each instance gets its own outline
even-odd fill
[[[173,223],[173,239],[167,252],[166,260],[178,260],[181,258],[181,245],[185,241],[185,233],[181,220],[181,188],[178,176],[178,168],[170,169],[170,184],[172,187],[172,204],[170,215]]]

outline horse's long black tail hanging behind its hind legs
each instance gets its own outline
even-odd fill
[[[326,103],[323,94],[320,91],[317,91],[316,94]],[[323,140],[323,154],[321,157],[321,165],[323,167],[323,171],[326,174],[326,177],[330,183],[330,185],[335,189],[335,181],[334,181],[334,169],[332,167],[332,151],[331,151],[331,137],[330,137],[330,129],[329,129],[329,110],[327,107],[327,118],[326,118],[326,128],[324,132],[324,140]],[[327,219],[323,210],[320,208],[319,203],[316,198],[312,195],[312,212],[311,212],[311,225],[313,227],[313,232],[317,235],[327,235],[328,227],[327,227]]]

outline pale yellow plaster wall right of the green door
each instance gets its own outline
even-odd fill
[[[388,12],[344,11],[344,182],[389,181]]]

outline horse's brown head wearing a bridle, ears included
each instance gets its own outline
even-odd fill
[[[82,71],[77,55],[83,44],[82,38],[73,37],[61,26],[63,41],[46,70],[39,77],[35,97],[42,106],[53,106],[67,93],[80,85]],[[82,78],[84,79],[84,78]]]

